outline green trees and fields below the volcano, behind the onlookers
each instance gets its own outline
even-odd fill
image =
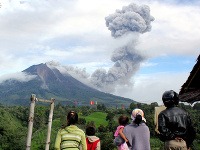
[[[158,139],[154,125],[156,106],[158,106],[156,102],[151,104],[133,102],[128,108],[107,108],[104,104],[88,106],[63,106],[61,104],[56,104],[53,113],[50,150],[54,149],[57,131],[62,126],[66,125],[66,114],[70,110],[74,110],[78,113],[78,126],[84,131],[88,125],[95,126],[96,136],[101,140],[102,150],[116,150],[116,146],[113,144],[113,134],[118,126],[117,119],[120,115],[127,115],[130,118],[130,114],[135,108],[140,108],[145,113],[145,118],[151,134],[151,149],[161,150],[163,142]],[[200,149],[200,103],[195,103],[193,106],[180,103],[179,107],[185,109],[192,118],[192,123],[197,132],[192,150],[198,150]],[[36,104],[35,106],[31,150],[45,149],[49,108],[49,105],[44,104]],[[29,107],[0,105],[0,150],[25,149],[28,132],[28,117]]]

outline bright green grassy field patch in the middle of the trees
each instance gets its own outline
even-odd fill
[[[88,116],[80,116],[80,118],[85,118],[86,122],[94,121],[95,126],[99,127],[100,125],[107,126],[108,122],[106,121],[107,113],[104,112],[93,112]]]

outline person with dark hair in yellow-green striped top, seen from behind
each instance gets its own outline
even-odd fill
[[[67,126],[57,133],[55,150],[87,150],[85,133],[76,126],[77,122],[78,114],[70,111],[67,115]]]

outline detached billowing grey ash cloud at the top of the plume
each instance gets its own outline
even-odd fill
[[[150,8],[147,5],[137,6],[130,4],[116,10],[114,14],[106,19],[106,26],[115,38],[128,32],[145,33],[151,30],[151,21],[154,18],[150,15]]]

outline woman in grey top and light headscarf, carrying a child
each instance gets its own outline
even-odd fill
[[[130,150],[150,150],[150,131],[146,125],[144,112],[134,109],[131,114],[132,122],[125,126],[124,135],[128,139]]]

